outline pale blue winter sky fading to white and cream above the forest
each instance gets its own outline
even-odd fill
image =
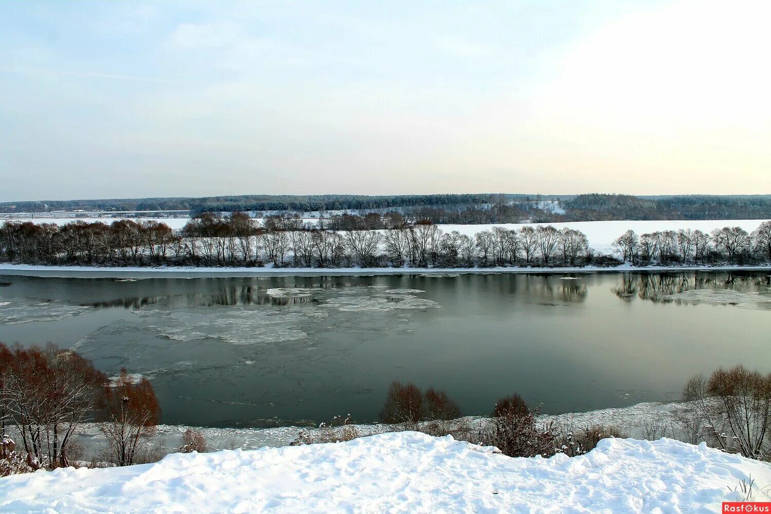
[[[771,193],[771,2],[2,2],[0,200]]]

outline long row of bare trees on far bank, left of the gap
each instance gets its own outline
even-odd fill
[[[54,224],[8,222],[0,227],[0,259],[25,264],[295,267],[489,267],[516,264],[581,266],[591,256],[578,230],[551,226],[476,236],[445,233],[429,222],[384,230],[327,230],[272,220],[258,227],[244,213],[207,213],[182,230],[157,221]]]

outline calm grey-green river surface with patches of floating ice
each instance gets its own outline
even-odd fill
[[[186,425],[372,422],[394,380],[468,415],[514,391],[550,413],[675,400],[699,371],[771,371],[769,329],[769,272],[0,276],[0,341],[144,375]]]

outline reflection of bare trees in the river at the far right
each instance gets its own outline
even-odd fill
[[[681,301],[667,298],[672,294],[692,289],[730,289],[733,291],[759,291],[771,284],[765,274],[725,271],[695,271],[690,273],[641,273],[623,274],[613,293],[621,300],[635,297],[655,302]]]

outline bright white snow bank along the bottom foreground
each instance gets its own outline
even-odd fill
[[[573,459],[510,459],[451,437],[400,432],[15,475],[0,479],[0,510],[719,512],[722,501],[739,499],[729,488],[750,475],[762,487],[771,466],[671,439],[605,439]]]

